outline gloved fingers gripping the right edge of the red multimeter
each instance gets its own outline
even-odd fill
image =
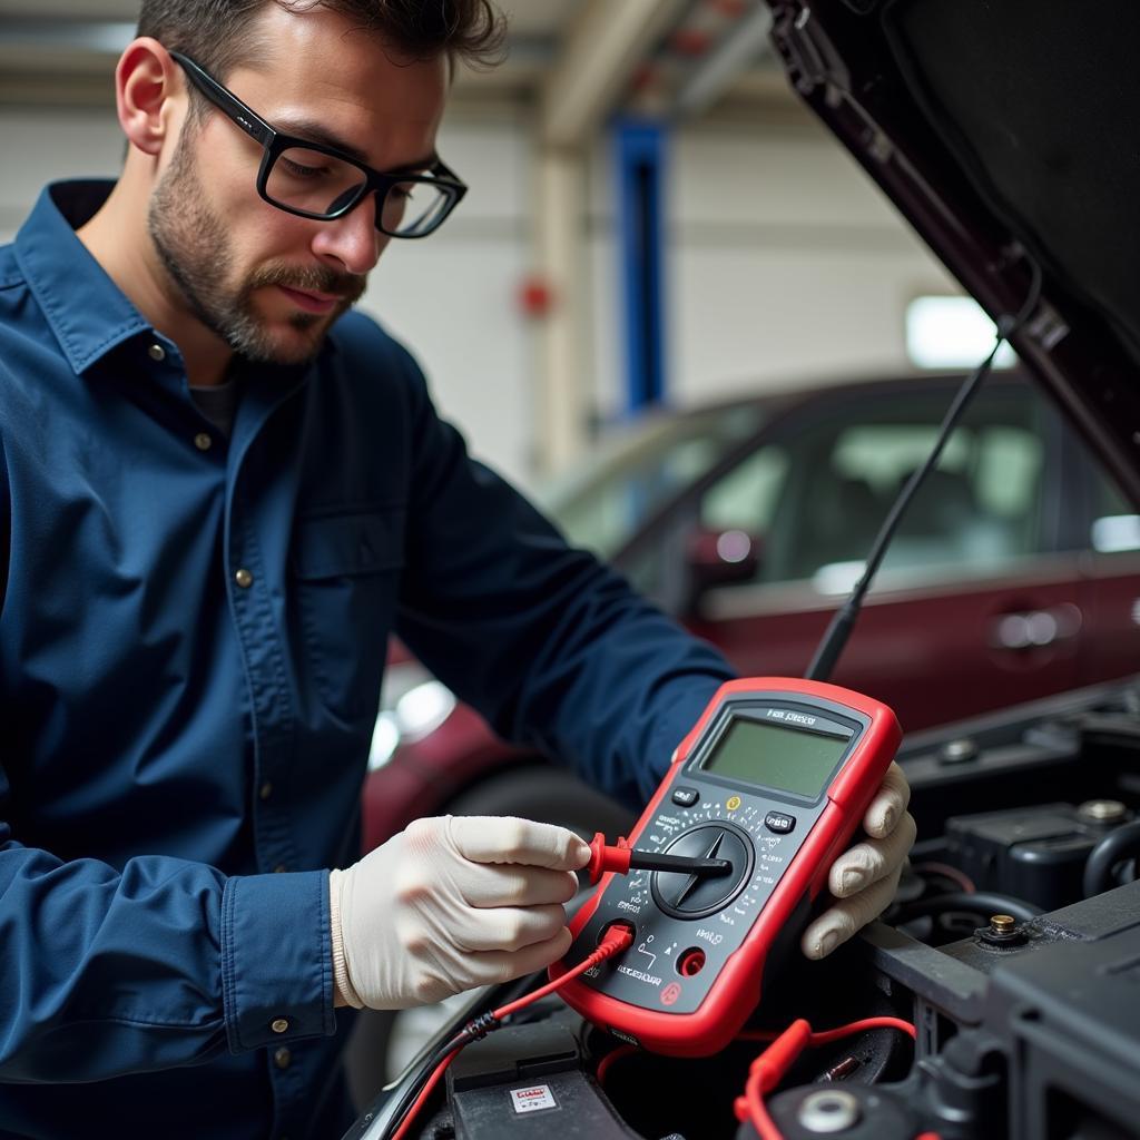
[[[891,764],[863,816],[870,838],[831,864],[828,888],[837,902],[804,931],[799,944],[808,958],[826,956],[890,905],[914,844],[914,819],[906,811],[910,801],[906,776]]]

